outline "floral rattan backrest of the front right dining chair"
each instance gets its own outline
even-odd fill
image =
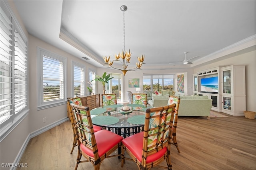
[[[170,151],[171,128],[176,104],[146,109],[142,164],[146,158],[164,147]],[[167,152],[168,152],[167,151]],[[167,154],[167,153],[166,153]]]

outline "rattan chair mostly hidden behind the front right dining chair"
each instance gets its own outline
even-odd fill
[[[179,106],[180,106],[180,97],[178,96],[170,96],[168,100],[168,105],[171,104],[176,104],[175,107],[175,114],[174,114],[174,119],[172,120],[172,144],[176,146],[176,149],[180,153],[180,149],[178,147],[178,142],[176,140],[176,129],[177,129],[177,124],[178,124],[178,111],[179,111]]]

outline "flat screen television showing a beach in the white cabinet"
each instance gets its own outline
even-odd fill
[[[218,93],[218,77],[201,78],[201,92]]]

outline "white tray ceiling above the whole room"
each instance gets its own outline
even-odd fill
[[[28,32],[88,63],[124,48],[143,68],[191,67],[255,45],[255,0],[14,0]],[[252,42],[252,43],[251,43]],[[184,52],[193,64],[182,62]],[[225,51],[228,51],[225,53]],[[175,65],[175,66],[174,66]]]

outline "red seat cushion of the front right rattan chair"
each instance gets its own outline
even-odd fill
[[[122,143],[126,146],[130,152],[141,162],[142,160],[142,147],[143,147],[143,133],[136,133],[130,137],[127,137],[122,140]],[[147,157],[146,162],[150,163],[152,161],[158,160],[160,157],[164,155],[164,153],[167,151],[167,148],[164,147],[164,149],[158,151],[155,154],[152,154]]]

